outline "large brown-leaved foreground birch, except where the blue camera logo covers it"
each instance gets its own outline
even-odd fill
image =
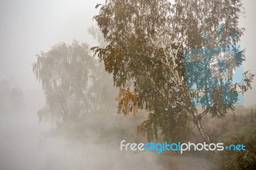
[[[221,118],[234,110],[234,105],[214,102],[212,107],[203,105],[202,110],[191,105],[191,98],[201,92],[188,90],[183,52],[239,42],[244,31],[238,27],[239,15],[244,13],[241,1],[107,0],[96,8],[99,6],[94,19],[108,45],[92,49],[113,73],[119,88],[118,112],[149,111],[148,120],[138,127],[148,139],[156,138],[159,132],[164,139],[186,139],[192,120],[202,139],[210,143],[202,118],[207,113]],[[225,30],[222,38],[211,42],[219,36],[214,34],[219,24]],[[235,32],[236,37],[232,36]],[[232,42],[227,42],[230,36]],[[253,74],[245,72],[244,84],[234,84],[232,90],[244,93],[252,79]],[[214,96],[221,94],[217,90]]]

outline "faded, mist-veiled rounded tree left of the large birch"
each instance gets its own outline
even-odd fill
[[[79,121],[86,113],[106,110],[107,79],[104,68],[90,56],[86,43],[60,43],[37,55],[33,63],[36,79],[42,82],[46,104],[38,111],[41,121]],[[103,77],[105,76],[105,77]],[[113,87],[113,86],[112,86]],[[102,91],[102,90],[105,91]]]

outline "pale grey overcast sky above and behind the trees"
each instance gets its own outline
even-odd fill
[[[95,24],[95,4],[102,2],[82,0],[0,0],[0,79],[8,77],[23,89],[40,89],[32,72],[35,54],[47,52],[58,42],[71,43],[73,39],[96,45],[87,28]],[[241,45],[246,48],[244,70],[256,73],[255,30],[256,1],[244,1],[246,28]],[[256,88],[255,81],[253,88]],[[246,93],[245,104],[255,104],[255,90]]]

